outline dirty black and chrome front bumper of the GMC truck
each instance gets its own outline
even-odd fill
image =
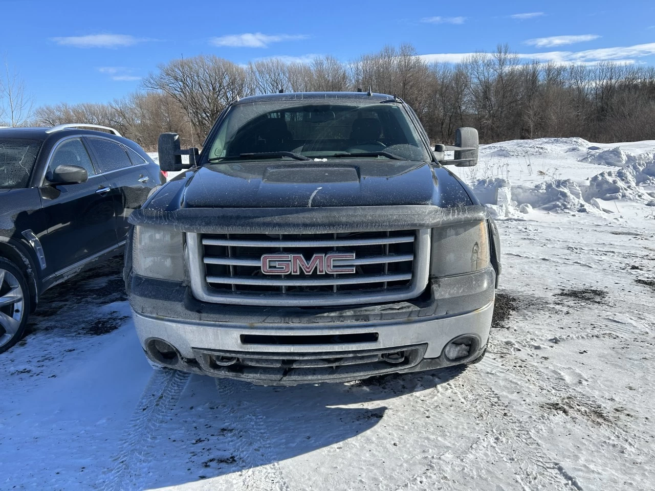
[[[130,304],[143,350],[159,365],[295,385],[474,361],[487,346],[494,285],[487,268],[432,280],[422,297],[406,302],[246,308],[199,302],[183,285],[132,276]],[[449,359],[446,346],[462,336],[468,354]]]

